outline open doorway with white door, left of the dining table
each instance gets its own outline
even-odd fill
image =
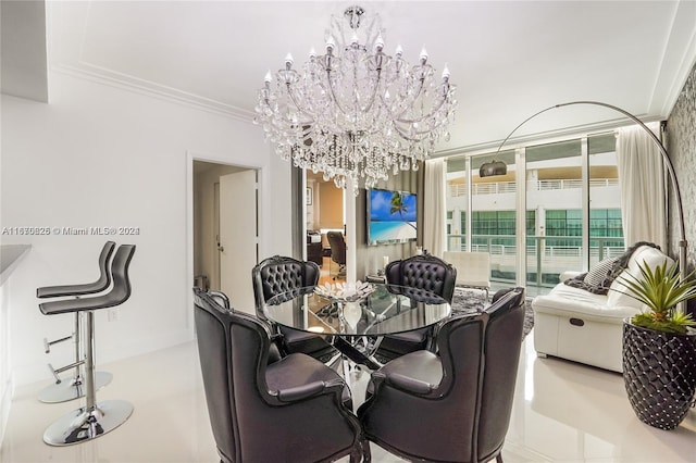
[[[195,285],[225,292],[253,313],[251,267],[258,263],[258,171],[194,160]]]

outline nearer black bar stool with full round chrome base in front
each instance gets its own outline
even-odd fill
[[[135,245],[122,245],[111,264],[113,287],[102,296],[51,301],[39,304],[45,315],[80,313],[85,315],[85,398],[86,405],[73,410],[55,421],[44,433],[50,446],[69,446],[102,436],[123,424],[133,413],[133,405],[124,400],[97,403],[95,387],[95,311],[120,305],[130,297],[128,266]]]

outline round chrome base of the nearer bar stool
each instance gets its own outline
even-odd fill
[[[133,405],[125,400],[99,402],[91,410],[83,406],[46,428],[44,441],[62,447],[96,439],[125,423],[132,413]]]

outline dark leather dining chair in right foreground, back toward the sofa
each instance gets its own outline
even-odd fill
[[[448,318],[437,353],[412,352],[372,373],[373,393],[358,409],[364,438],[408,461],[502,462],[523,325],[524,288]]]

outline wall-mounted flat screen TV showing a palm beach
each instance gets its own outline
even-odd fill
[[[406,191],[368,190],[368,245],[415,241],[415,199]]]

